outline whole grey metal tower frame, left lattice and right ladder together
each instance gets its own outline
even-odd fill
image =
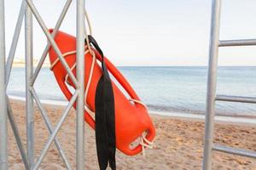
[[[36,170],[40,167],[41,162],[44,160],[44,156],[49,150],[49,146],[55,142],[57,150],[60,153],[62,161],[65,163],[67,169],[71,169],[67,157],[61,148],[61,144],[56,138],[62,123],[67,118],[72,105],[77,100],[77,121],[76,121],[76,169],[84,169],[84,0],[77,0],[77,77],[73,75],[73,72],[67,65],[66,60],[63,58],[60,49],[54,41],[56,31],[59,30],[62,20],[67,14],[67,10],[72,3],[72,0],[67,0],[64,8],[61,11],[61,15],[55,25],[55,30],[50,34],[47,26],[44,24],[37,8],[32,3],[32,0],[23,0],[20,6],[20,14],[15,26],[15,33],[11,47],[9,50],[9,57],[7,64],[5,65],[5,25],[4,25],[4,0],[0,0],[0,169],[8,169],[8,150],[7,150],[7,119],[9,118],[10,125],[15,134],[15,139],[20,150],[20,155],[26,169]],[[225,153],[236,154],[239,156],[248,156],[256,158],[256,153],[249,150],[234,149],[218,144],[213,144],[213,125],[214,125],[214,112],[215,102],[230,101],[230,102],[243,102],[243,103],[256,103],[255,98],[248,98],[242,96],[226,96],[216,95],[217,86],[217,68],[218,68],[218,47],[228,46],[247,46],[256,45],[256,39],[248,40],[225,40],[219,41],[219,21],[220,21],[220,9],[221,0],[212,0],[212,27],[211,27],[211,39],[210,39],[210,51],[209,51],[209,67],[208,67],[208,81],[207,81],[207,112],[206,112],[206,128],[205,128],[205,145],[204,145],[204,159],[203,169],[212,169],[212,150],[218,150]],[[12,108],[9,104],[9,97],[6,95],[6,88],[9,83],[10,72],[15,58],[15,50],[20,36],[20,28],[22,26],[22,20],[25,15],[25,35],[26,35],[26,140],[27,140],[27,154],[21,143],[20,133],[15,123],[15,117],[13,116]],[[48,43],[44,48],[44,53],[33,71],[33,54],[32,54],[32,17],[38,21],[44,31],[45,36],[48,39]],[[56,127],[52,127],[49,122],[44,106],[41,104],[36,90],[33,88],[33,84],[38,77],[38,73],[44,64],[44,60],[48,54],[49,47],[53,47],[56,54],[58,54],[62,65],[71,80],[73,81],[76,90],[72,99],[69,101],[67,107],[63,111],[60,121]],[[33,102],[38,105],[38,109],[44,118],[44,122],[49,130],[49,139],[44,145],[44,149],[41,151],[38,160],[34,162],[34,127],[33,127]]]

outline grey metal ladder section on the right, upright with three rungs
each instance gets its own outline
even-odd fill
[[[218,70],[218,48],[229,46],[251,46],[256,45],[256,39],[246,40],[224,40],[219,41],[221,0],[212,0],[212,19],[211,19],[211,35],[210,50],[208,61],[208,80],[207,80],[207,110],[206,110],[206,127],[204,140],[204,158],[203,169],[212,169],[212,150],[222,151],[224,153],[234,154],[238,156],[247,156],[256,158],[256,152],[250,150],[235,149],[219,144],[213,144],[213,128],[215,115],[215,102],[241,102],[256,103],[256,98],[244,96],[216,95],[217,86],[217,70]]]

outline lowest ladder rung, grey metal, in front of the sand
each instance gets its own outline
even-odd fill
[[[254,152],[254,151],[241,150],[241,149],[231,148],[231,147],[223,146],[223,145],[219,145],[219,144],[214,144],[212,147],[212,150],[222,151],[224,153],[234,154],[237,156],[247,156],[247,157],[256,158],[256,152]]]

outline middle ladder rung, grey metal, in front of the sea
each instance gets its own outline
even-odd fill
[[[243,96],[217,95],[215,100],[256,104],[256,98]]]

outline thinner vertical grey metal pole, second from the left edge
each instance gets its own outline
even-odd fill
[[[32,54],[32,11],[26,6],[25,14],[25,41],[26,41],[26,149],[27,161],[32,169],[34,164],[34,116],[32,88],[33,54]]]

